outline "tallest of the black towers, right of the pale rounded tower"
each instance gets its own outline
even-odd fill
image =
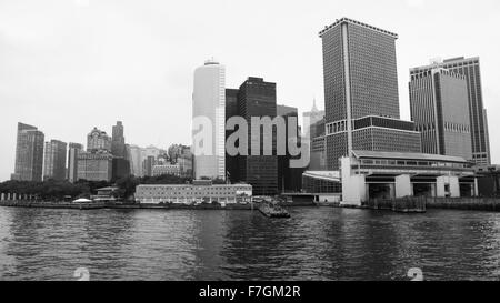
[[[248,78],[238,93],[238,113],[248,123],[249,155],[238,156],[238,178],[253,186],[254,195],[272,195],[278,193],[278,156],[276,155],[276,135],[272,139],[274,155],[263,155],[263,133],[261,132],[260,154],[251,155],[252,117],[277,117],[276,83],[266,82],[261,78]]]

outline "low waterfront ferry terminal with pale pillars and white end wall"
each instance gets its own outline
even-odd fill
[[[406,196],[477,196],[471,163],[460,156],[423,153],[353,151],[342,158],[342,203]]]

